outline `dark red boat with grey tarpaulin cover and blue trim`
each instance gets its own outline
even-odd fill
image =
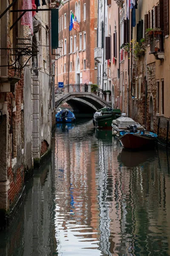
[[[112,121],[112,134],[118,137],[124,148],[131,150],[153,148],[158,137],[130,117],[124,116]]]

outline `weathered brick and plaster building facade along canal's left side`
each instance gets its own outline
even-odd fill
[[[0,1],[0,228],[22,198],[33,167],[40,166],[51,151],[55,117],[50,14],[26,12],[15,23],[18,10],[48,9],[51,3],[13,2],[9,6],[8,0]]]

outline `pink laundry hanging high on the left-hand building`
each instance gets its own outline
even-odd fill
[[[32,0],[23,0],[22,10],[32,9]],[[33,34],[32,12],[26,12],[22,19],[21,25],[29,26],[31,33]]]

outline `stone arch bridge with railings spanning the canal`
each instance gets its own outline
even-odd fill
[[[102,90],[91,92],[91,84],[69,84],[55,90],[55,107],[60,108],[67,102],[74,111],[80,113],[94,113],[100,108],[111,107],[109,93],[107,101],[103,99]]]

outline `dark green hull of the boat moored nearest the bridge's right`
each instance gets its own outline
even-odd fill
[[[116,119],[120,114],[111,113],[103,116],[98,116],[94,118],[94,122],[97,128],[99,129],[111,129],[112,120]]]

